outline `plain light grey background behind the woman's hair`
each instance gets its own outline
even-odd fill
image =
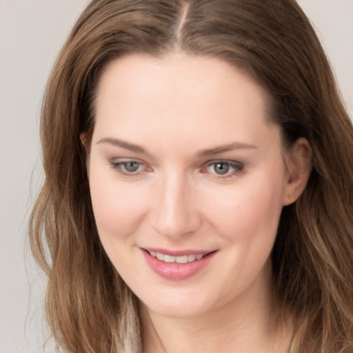
[[[46,79],[88,0],[0,0],[0,353],[41,352],[43,291],[26,250],[42,180],[39,112]],[[300,0],[353,116],[353,0]],[[48,352],[52,352],[48,345]]]

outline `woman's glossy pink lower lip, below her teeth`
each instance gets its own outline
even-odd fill
[[[142,250],[142,253],[152,271],[159,274],[163,279],[170,279],[172,281],[181,281],[194,276],[205,268],[216,254],[216,252],[212,252],[200,260],[188,263],[167,263],[160,261],[145,250]]]

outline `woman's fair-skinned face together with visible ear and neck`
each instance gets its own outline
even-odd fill
[[[305,188],[310,145],[284,151],[267,103],[220,59],[134,54],[103,72],[92,206],[105,251],[141,301],[145,353],[288,352],[270,252],[283,206]],[[168,262],[177,256],[189,262]]]

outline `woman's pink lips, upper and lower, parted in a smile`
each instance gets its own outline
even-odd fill
[[[143,256],[145,256],[145,261],[153,272],[159,274],[163,279],[170,279],[172,281],[181,281],[183,279],[188,279],[194,276],[196,273],[200,272],[206,265],[212,260],[216,251],[211,252],[207,256],[200,260],[195,260],[189,263],[166,263],[160,261],[154,256],[150,255],[147,251],[161,252],[162,254],[167,254],[170,256],[183,256],[191,254],[208,254],[210,251],[197,251],[197,250],[183,250],[183,251],[168,251],[164,249],[157,248],[143,248],[141,249]]]

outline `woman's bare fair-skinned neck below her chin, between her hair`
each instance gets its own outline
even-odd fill
[[[287,353],[290,328],[279,324],[266,288],[254,283],[238,298],[192,317],[163,316],[141,305],[143,353]]]

